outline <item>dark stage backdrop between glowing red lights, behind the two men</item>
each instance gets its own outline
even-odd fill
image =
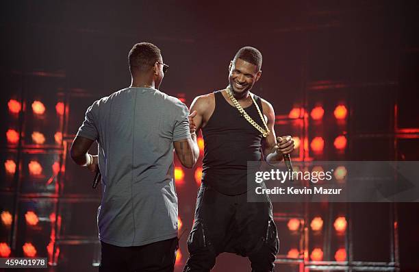
[[[160,90],[188,106],[196,95],[227,85],[229,62],[240,47],[262,51],[262,78],[253,91],[274,106],[277,134],[299,136],[302,143],[315,136],[325,139],[320,153],[301,144],[294,160],[418,160],[418,12],[417,1],[2,1],[0,128],[5,135],[14,127],[20,138],[15,145],[5,136],[0,140],[2,164],[13,158],[18,165],[12,176],[1,170],[0,208],[12,212],[13,223],[1,228],[0,242],[17,257],[32,240],[42,247],[38,256],[47,256],[45,246],[54,230],[54,252],[60,246],[54,269],[91,269],[98,250],[94,221],[100,195],[90,189],[91,175],[68,160],[68,145],[94,100],[129,85],[127,53],[136,42],[160,47],[170,66]],[[23,105],[17,116],[8,112],[10,99]],[[41,121],[31,115],[34,99],[47,107]],[[49,115],[57,101],[66,106],[58,119]],[[348,108],[340,124],[333,117],[339,103]],[[325,117],[313,121],[309,112],[319,105]],[[307,114],[290,119],[292,108]],[[45,145],[31,143],[35,129],[50,135]],[[61,144],[51,137],[57,129],[63,134]],[[338,135],[348,140],[343,151],[333,147]],[[32,158],[46,164],[58,161],[65,171],[53,175],[52,185],[46,186],[47,174],[27,174]],[[195,170],[184,170],[183,181],[177,182],[179,217],[186,230],[177,271],[188,256]],[[44,212],[45,225],[27,227],[27,210]],[[61,214],[62,223],[48,221],[52,211]],[[327,271],[335,265],[335,247],[348,252],[342,271],[374,265],[379,271],[419,271],[416,203],[276,203],[274,212],[284,241],[281,271]],[[312,234],[309,222],[322,214],[330,230]],[[342,237],[331,231],[335,214],[344,214],[349,222]],[[302,226],[291,235],[286,221],[294,217]],[[305,241],[294,241],[300,262],[286,258],[288,244],[294,243],[287,239],[293,235]],[[325,267],[304,258],[314,247],[325,252]],[[214,269],[247,270],[248,261],[231,254],[220,256]]]

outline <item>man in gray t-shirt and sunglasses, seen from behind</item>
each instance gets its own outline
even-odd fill
[[[90,171],[100,169],[102,175],[99,270],[173,271],[177,249],[173,149],[188,168],[199,149],[196,136],[190,134],[188,108],[157,90],[168,67],[160,49],[147,42],[134,45],[129,67],[131,86],[95,101],[86,111],[71,157]],[[98,156],[87,153],[94,140]]]

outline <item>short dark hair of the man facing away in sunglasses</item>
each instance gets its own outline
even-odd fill
[[[140,71],[149,71],[160,56],[160,49],[152,43],[137,43],[128,53],[129,69],[136,67]]]

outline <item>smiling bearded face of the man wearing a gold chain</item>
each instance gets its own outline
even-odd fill
[[[258,71],[255,64],[246,62],[240,58],[230,62],[229,84],[236,98],[244,97],[259,80],[262,71]]]

